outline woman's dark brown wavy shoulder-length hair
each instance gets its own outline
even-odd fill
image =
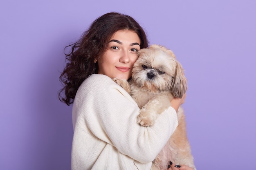
[[[67,64],[59,77],[64,85],[58,93],[61,102],[67,105],[74,102],[82,82],[98,71],[98,64],[94,60],[106,51],[110,38],[119,30],[134,31],[141,40],[141,49],[148,46],[146,33],[132,17],[111,12],[97,18],[77,42],[65,47],[72,47],[72,50],[65,53]]]

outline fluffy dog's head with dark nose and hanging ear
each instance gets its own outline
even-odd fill
[[[170,91],[178,98],[187,89],[182,66],[171,50],[159,45],[151,45],[138,52],[132,79],[140,88],[153,93]]]

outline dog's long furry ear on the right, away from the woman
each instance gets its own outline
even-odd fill
[[[187,80],[182,65],[176,60],[176,70],[171,85],[171,93],[177,98],[182,98],[187,90]]]

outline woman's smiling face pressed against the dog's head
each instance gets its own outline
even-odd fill
[[[140,43],[137,33],[130,30],[117,31],[110,38],[108,49],[98,59],[98,73],[110,78],[129,79]]]

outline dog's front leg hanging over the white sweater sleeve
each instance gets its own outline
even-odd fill
[[[152,126],[157,118],[157,115],[171,106],[170,95],[157,95],[140,110],[137,117],[137,123],[141,126]]]

